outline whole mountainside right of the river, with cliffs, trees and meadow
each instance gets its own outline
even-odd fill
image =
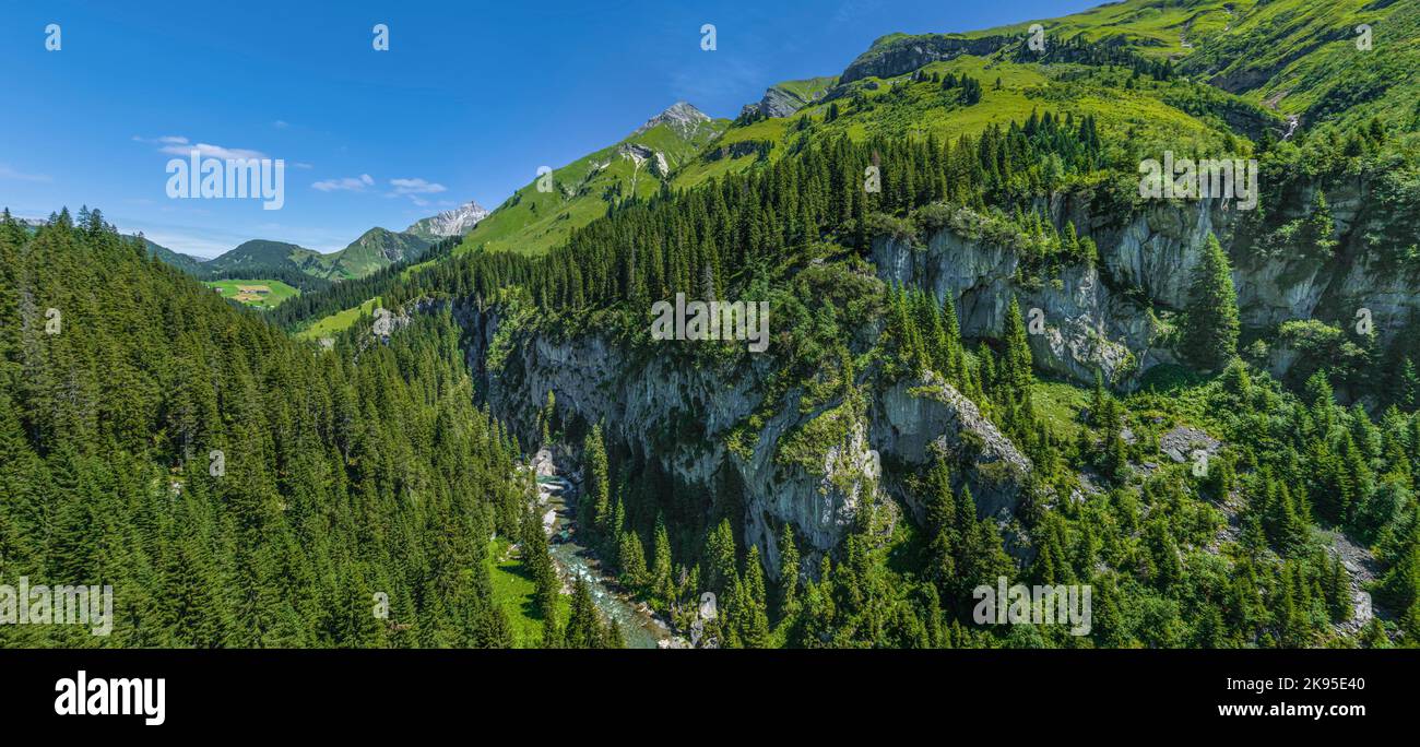
[[[1176,4],[1126,6],[1137,44],[880,40],[545,256],[382,302],[454,312],[480,399],[579,470],[579,533],[680,631],[716,594],[721,645],[1411,645],[1420,122],[1292,128],[1153,48]],[[1140,199],[1164,149],[1258,159],[1261,206]],[[770,301],[770,352],[653,341],[682,293]],[[980,625],[998,577],[1092,587],[1093,629]]]

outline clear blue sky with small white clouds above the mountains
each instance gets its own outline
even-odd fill
[[[212,257],[247,239],[334,251],[535,178],[684,99],[734,116],[893,31],[967,31],[1098,0],[6,1],[0,206],[98,206]],[[310,6],[310,7],[297,7]],[[61,50],[47,51],[45,27]],[[372,27],[389,27],[389,51]],[[717,48],[700,48],[714,24]],[[285,202],[175,200],[172,152],[285,160]],[[169,152],[165,152],[169,151]]]

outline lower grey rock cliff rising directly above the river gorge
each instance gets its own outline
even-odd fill
[[[551,391],[564,420],[604,423],[609,442],[656,460],[677,489],[713,490],[731,477],[746,500],[746,542],[760,547],[775,577],[784,523],[794,525],[814,567],[866,501],[880,500],[885,489],[900,490],[900,476],[885,474],[885,463],[919,470],[930,460],[929,446],[940,445],[967,464],[954,473],[981,496],[983,513],[1003,523],[1031,469],[970,400],[936,378],[900,382],[861,406],[835,399],[804,408],[802,392],[791,389],[770,403],[772,415],[758,432],[737,440],[743,447],[730,449],[737,426],[765,405],[772,352],[696,366],[677,344],[646,355],[598,334],[552,339],[514,332],[511,345],[494,345],[504,337],[496,312],[467,305],[456,317],[470,331],[469,362],[490,408],[523,443],[537,440],[530,413]],[[506,351],[496,369],[484,366],[490,348]]]

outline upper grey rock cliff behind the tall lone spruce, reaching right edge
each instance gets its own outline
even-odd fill
[[[1420,278],[1384,268],[1372,254],[1353,249],[1367,229],[1356,192],[1338,193],[1332,212],[1342,249],[1328,258],[1235,249],[1237,212],[1220,200],[1157,202],[1123,222],[1092,216],[1062,200],[1045,207],[1059,224],[1071,220],[1088,227],[1098,244],[1098,266],[1076,264],[1058,277],[1025,283],[1014,250],[943,229],[926,246],[878,239],[872,257],[878,276],[929,290],[939,302],[951,294],[961,332],[973,338],[998,339],[1015,295],[1028,328],[1032,310],[1038,310],[1041,324],[1028,331],[1039,368],[1085,383],[1098,368],[1125,388],[1149,368],[1174,361],[1159,339],[1162,329],[1152,311],[1187,307],[1193,270],[1210,234],[1230,249],[1242,325],[1268,339],[1284,321],[1348,327],[1365,308],[1380,342],[1387,344],[1411,314],[1420,314],[1420,294],[1414,293]],[[1295,359],[1295,354],[1274,349],[1269,368],[1281,376]]]

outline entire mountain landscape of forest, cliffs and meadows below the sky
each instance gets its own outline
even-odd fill
[[[116,579],[108,645],[618,646],[579,542],[677,646],[1414,646],[1416,7],[892,34],[268,318],[7,220],[4,572]],[[1255,202],[1150,196],[1166,152]],[[764,352],[657,338],[677,297],[765,302]]]

